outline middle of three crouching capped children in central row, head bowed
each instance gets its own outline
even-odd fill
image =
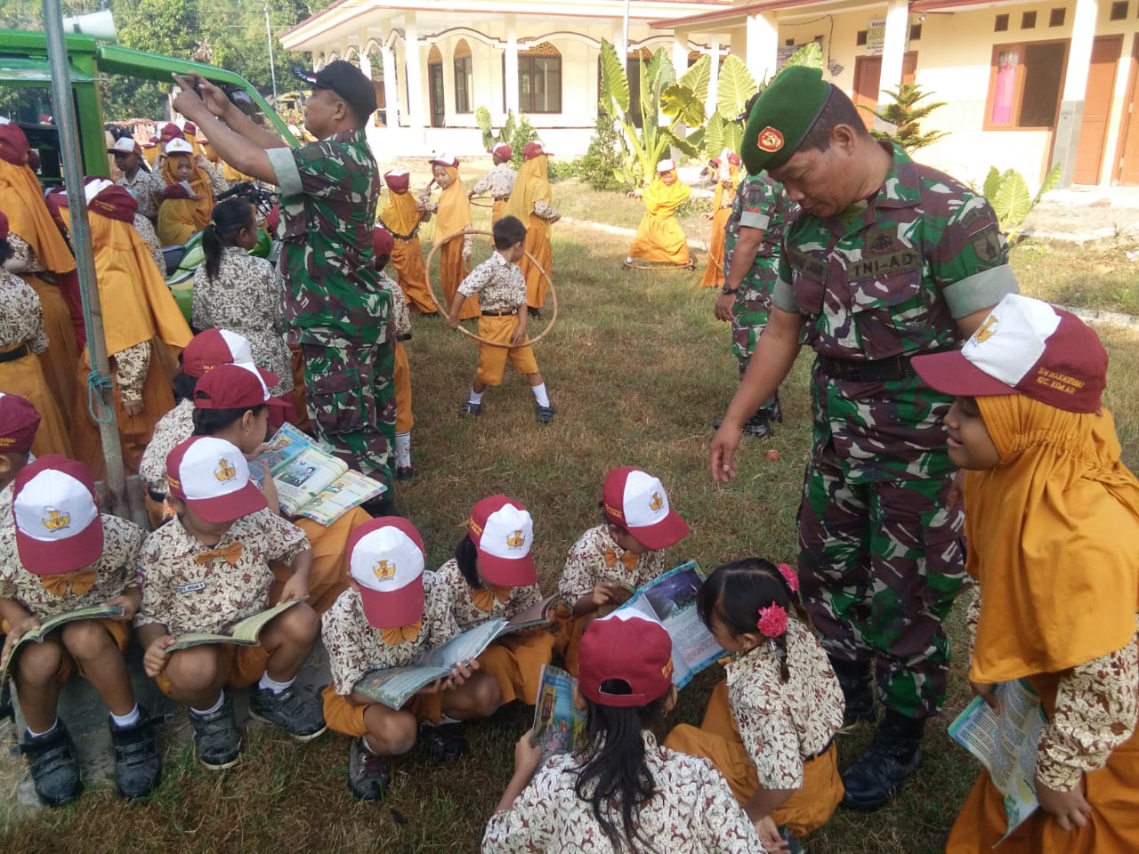
[[[510,619],[541,600],[530,553],[533,539],[534,523],[521,501],[491,495],[475,504],[454,557],[439,568],[461,631],[493,617]],[[538,626],[499,638],[478,664],[499,683],[502,703],[519,699],[532,706],[552,651],[554,634]]]

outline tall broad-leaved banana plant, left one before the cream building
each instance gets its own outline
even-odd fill
[[[689,77],[691,71],[688,69],[685,77],[698,84],[699,72]],[[702,124],[703,104],[695,105],[689,99],[678,115],[667,116],[665,122],[661,121],[664,92],[677,82],[677,71],[669,54],[663,49],[657,50],[641,68],[639,115],[641,126],[638,128],[630,112],[629,76],[625,74],[624,63],[611,42],[601,41],[600,106],[621,128],[623,165],[614,170],[614,175],[629,187],[637,188],[652,180],[656,174],[656,164],[667,157],[671,147],[680,149],[688,157],[699,155],[699,150],[682,139],[677,130],[681,124]],[[706,92],[706,82],[704,87]],[[697,108],[698,116],[694,112]]]

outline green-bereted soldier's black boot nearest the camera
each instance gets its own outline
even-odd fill
[[[886,709],[870,747],[843,772],[843,806],[874,812],[901,791],[907,778],[921,767],[919,744],[924,729],[924,717]]]

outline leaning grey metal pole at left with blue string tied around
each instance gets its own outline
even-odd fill
[[[107,491],[110,493],[112,512],[130,518],[126,500],[126,478],[123,470],[123,451],[118,442],[118,420],[110,389],[110,363],[107,361],[107,344],[103,335],[103,306],[99,304],[99,288],[95,278],[95,249],[91,247],[91,229],[87,221],[87,196],[83,192],[83,172],[80,169],[79,130],[75,121],[75,101],[72,97],[71,66],[67,63],[67,44],[64,41],[63,14],[59,0],[43,0],[43,30],[48,36],[48,59],[51,63],[51,100],[56,126],[59,128],[59,149],[64,161],[64,179],[67,181],[67,207],[72,212],[72,246],[79,273],[79,291],[83,299],[83,326],[87,329],[87,350],[91,367],[107,383],[90,389],[98,397],[103,411],[110,418],[99,424],[103,441],[103,457],[107,462]],[[76,412],[76,418],[85,418]]]

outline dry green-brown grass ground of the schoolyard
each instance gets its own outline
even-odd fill
[[[639,203],[559,186],[563,208],[575,219],[636,224]],[[612,215],[611,215],[612,214]],[[482,217],[482,220],[480,219]],[[476,227],[486,212],[476,210]],[[694,221],[695,222],[695,221]],[[706,228],[706,225],[704,227]],[[712,420],[736,386],[729,330],[712,317],[712,291],[699,291],[695,272],[623,271],[626,240],[584,227],[555,227],[559,318],[536,348],[558,414],[534,422],[533,397],[522,379],[487,392],[483,416],[457,418],[476,361],[474,344],[442,320],[419,319],[408,351],[412,366],[416,462],[421,476],[398,493],[428,549],[428,565],[449,557],[470,506],[493,492],[525,502],[535,520],[535,556],[547,589],[565,553],[598,519],[605,473],[629,463],[664,481],[693,533],[672,550],[673,563],[695,558],[707,568],[745,555],[793,560],[794,516],[809,444],[808,367],[804,354],[782,389],[786,424],[772,440],[745,440],[740,477],[716,486],[707,474]],[[426,241],[425,241],[426,244]],[[481,247],[485,255],[486,247]],[[1018,249],[1024,290],[1065,302],[1121,310],[1125,282],[1085,268],[1082,279],[1059,281],[1085,252],[1063,247]],[[703,257],[698,258],[698,268]],[[549,312],[547,312],[549,314]],[[532,334],[543,321],[535,321]],[[1116,412],[1125,459],[1137,462],[1139,402],[1137,340],[1103,329],[1113,366],[1108,404]],[[764,453],[781,457],[769,461]],[[959,609],[958,609],[959,611]],[[960,614],[950,631],[958,648]],[[672,722],[698,722],[707,672],[681,693]],[[976,774],[944,733],[967,701],[960,659],[954,662],[947,714],[926,739],[926,764],[898,800],[871,815],[839,811],[809,838],[814,854],[934,854]],[[40,811],[0,835],[15,852],[474,852],[483,826],[511,771],[513,745],[530,714],[503,709],[469,726],[473,750],[458,763],[433,764],[418,750],[394,762],[386,800],[355,802],[345,786],[347,740],[329,733],[295,745],[270,730],[252,732],[238,767],[198,770],[187,745],[173,747],[165,779],[148,803],[128,804],[112,786],[89,787],[77,803]],[[869,736],[862,726],[839,739],[847,762]]]

